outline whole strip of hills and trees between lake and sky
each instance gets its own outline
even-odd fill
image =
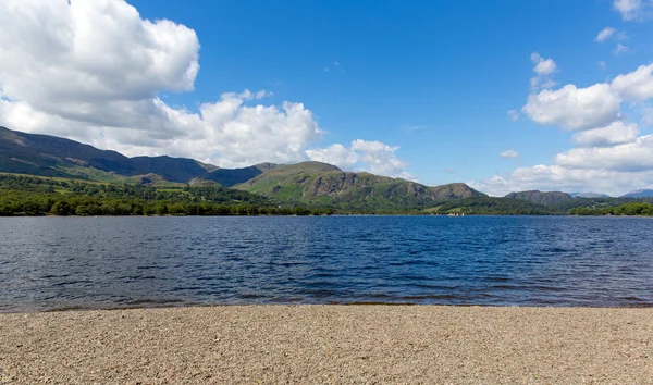
[[[0,215],[651,215],[649,192],[492,198],[463,183],[430,187],[320,162],[229,170],[185,158],[127,158],[0,127]]]

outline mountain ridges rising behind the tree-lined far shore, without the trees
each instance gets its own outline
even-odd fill
[[[219,184],[278,201],[343,209],[406,209],[488,197],[463,183],[426,186],[366,172],[345,172],[319,162],[259,163],[242,169],[222,169],[188,158],[128,158],[71,139],[5,127],[0,127],[0,172],[151,186]],[[646,197],[653,197],[653,190],[624,196]],[[552,207],[575,199],[608,197],[595,192],[529,190],[510,192],[505,198]]]

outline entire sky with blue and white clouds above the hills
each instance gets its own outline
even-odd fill
[[[0,2],[0,125],[493,196],[653,188],[653,0]]]

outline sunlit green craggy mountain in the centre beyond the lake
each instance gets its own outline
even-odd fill
[[[365,172],[344,172],[320,162],[280,165],[234,188],[282,201],[350,209],[415,208],[485,196],[461,183],[429,187]]]

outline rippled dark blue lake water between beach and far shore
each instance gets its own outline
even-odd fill
[[[0,312],[359,302],[653,306],[653,220],[0,219]]]

